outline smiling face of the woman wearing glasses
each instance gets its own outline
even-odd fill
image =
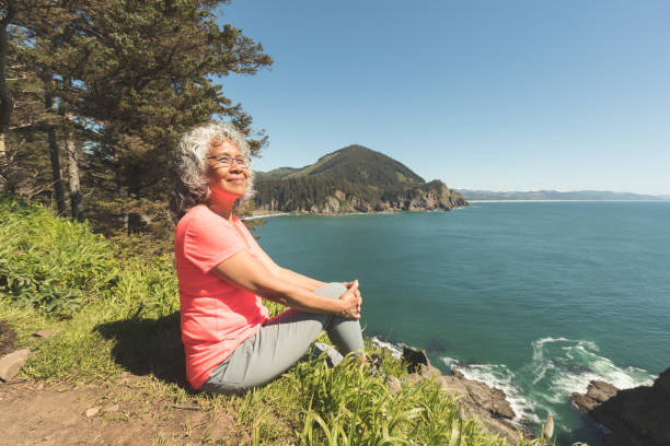
[[[238,160],[243,160],[244,166],[241,166]],[[249,164],[234,142],[223,139],[212,145],[207,155],[207,164],[212,196],[233,195],[236,199],[244,195],[249,179]]]

